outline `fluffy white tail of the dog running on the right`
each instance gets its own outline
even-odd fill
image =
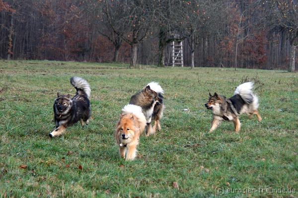
[[[234,95],[239,94],[246,104],[253,106],[254,109],[258,109],[259,99],[253,94],[252,89],[253,82],[245,82],[236,88]]]

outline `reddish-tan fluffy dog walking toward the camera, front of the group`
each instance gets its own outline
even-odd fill
[[[122,109],[115,132],[121,157],[126,160],[135,159],[139,138],[145,127],[146,118],[140,106],[129,104]]]

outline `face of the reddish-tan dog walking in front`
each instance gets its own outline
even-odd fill
[[[120,115],[117,126],[117,136],[121,143],[130,143],[135,135],[135,124],[133,115]]]

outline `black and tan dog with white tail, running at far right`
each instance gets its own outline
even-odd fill
[[[208,103],[205,104],[207,109],[213,111],[213,120],[210,132],[216,130],[222,121],[233,121],[235,132],[240,130],[240,121],[238,116],[245,113],[250,118],[255,114],[259,121],[262,118],[258,112],[259,99],[253,94],[253,82],[240,84],[231,98],[226,99],[224,96],[209,93]]]

